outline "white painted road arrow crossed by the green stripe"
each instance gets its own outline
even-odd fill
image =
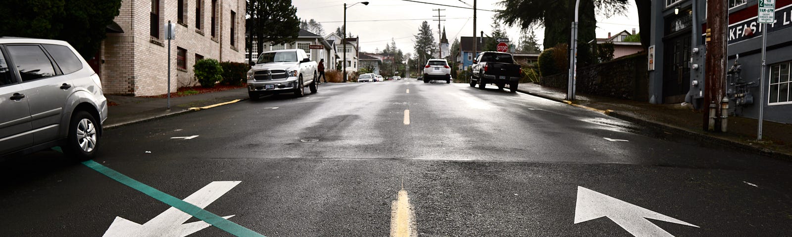
[[[240,181],[215,181],[204,186],[200,190],[185,198],[184,201],[203,209],[211,202],[226,194],[229,190],[237,186]],[[234,215],[231,215],[234,216]],[[223,216],[228,219],[231,216]],[[110,228],[105,231],[104,237],[184,237],[208,228],[211,224],[203,220],[184,224],[185,221],[192,218],[190,214],[184,213],[179,209],[171,207],[164,213],[147,221],[145,224],[137,224],[131,220],[126,220],[120,216],[116,216],[116,220],[112,221]]]

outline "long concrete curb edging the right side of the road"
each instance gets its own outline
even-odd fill
[[[756,147],[756,146],[753,146],[753,145],[744,144],[744,143],[739,142],[739,141],[731,141],[731,140],[728,140],[728,139],[723,139],[721,137],[713,137],[713,136],[710,136],[710,135],[707,135],[707,134],[701,134],[701,133],[697,133],[697,132],[694,132],[694,131],[685,130],[683,128],[679,128],[679,127],[676,127],[676,126],[671,126],[671,125],[664,124],[664,123],[661,123],[661,122],[652,122],[652,121],[648,121],[648,120],[645,120],[645,119],[636,118],[636,117],[633,117],[633,116],[630,116],[630,115],[621,114],[621,113],[616,112],[616,111],[611,111],[611,110],[603,111],[603,110],[592,108],[592,107],[586,107],[586,106],[582,106],[582,105],[579,105],[579,104],[576,104],[576,103],[572,103],[572,101],[569,101],[569,100],[560,100],[560,99],[553,98],[553,97],[550,97],[550,96],[539,95],[539,94],[536,94],[536,93],[527,92],[526,90],[521,90],[519,88],[517,89],[517,91],[525,93],[525,94],[528,94],[528,95],[531,95],[531,96],[537,96],[537,97],[540,97],[540,98],[543,98],[543,99],[546,99],[546,100],[553,100],[553,101],[556,101],[556,102],[559,102],[559,103],[566,103],[566,104],[569,104],[569,105],[572,105],[572,106],[575,106],[575,107],[582,107],[584,109],[588,109],[588,110],[591,110],[591,111],[597,111],[597,112],[603,113],[605,115],[614,117],[616,119],[622,119],[622,120],[625,120],[625,121],[628,121],[628,122],[634,122],[634,123],[640,124],[642,126],[649,126],[649,127],[652,127],[654,129],[658,129],[658,130],[668,130],[668,131],[671,131],[672,133],[682,134],[683,136],[690,137],[690,138],[694,139],[695,141],[703,141],[703,142],[707,142],[707,143],[714,144],[714,145],[729,146],[729,147],[737,148],[737,149],[739,149],[741,151],[752,152],[752,153],[760,154],[760,155],[763,155],[763,156],[770,156],[770,157],[773,157],[773,158],[779,158],[779,159],[783,159],[783,160],[792,160],[792,154],[787,154],[787,153],[784,153],[784,152],[776,152],[776,151],[773,151],[773,150],[770,150],[770,149],[763,149],[763,148]]]

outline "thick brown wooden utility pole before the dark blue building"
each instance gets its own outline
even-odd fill
[[[728,111],[718,108],[725,99],[725,70],[726,70],[726,32],[728,10],[725,1],[708,1],[706,3],[706,67],[704,83],[704,116],[703,129],[705,131],[722,132],[722,118]],[[694,26],[695,27],[695,26]],[[728,100],[727,100],[728,103]],[[706,107],[709,105],[709,107]],[[725,131],[723,131],[725,132]]]

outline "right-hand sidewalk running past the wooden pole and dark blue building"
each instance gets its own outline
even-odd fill
[[[520,84],[518,91],[565,103],[566,91],[563,89],[524,83]],[[607,111],[607,115],[654,127],[663,130],[666,134],[681,134],[697,141],[727,145],[792,160],[792,124],[763,122],[762,141],[757,142],[758,121],[756,119],[731,116],[727,133],[712,133],[702,129],[703,113],[694,111],[689,105],[651,104],[581,94],[575,97],[577,100],[573,102],[573,105]]]

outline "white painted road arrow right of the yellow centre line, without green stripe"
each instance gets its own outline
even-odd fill
[[[632,205],[626,201],[611,198],[582,186],[577,186],[577,205],[575,206],[575,224],[607,216],[636,237],[674,237],[646,218],[666,222],[684,224],[699,228],[682,220],[655,213],[649,209]]]

